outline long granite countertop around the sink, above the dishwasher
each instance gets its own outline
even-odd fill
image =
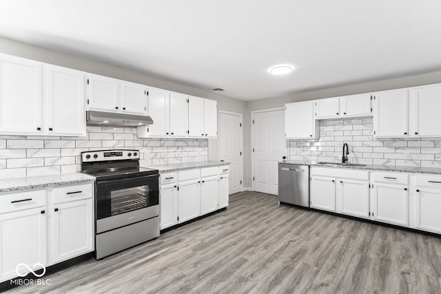
[[[365,166],[351,166],[351,165],[326,165],[316,161],[300,161],[300,160],[286,160],[278,163],[285,163],[288,165],[310,165],[314,167],[329,167],[333,169],[367,169],[371,171],[398,171],[404,173],[418,173],[418,174],[438,174],[441,175],[441,167],[407,167],[400,165],[365,165]]]

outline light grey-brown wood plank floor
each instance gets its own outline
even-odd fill
[[[47,277],[10,293],[441,293],[441,240],[243,192],[227,211]]]

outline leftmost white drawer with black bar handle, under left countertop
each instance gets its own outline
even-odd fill
[[[10,213],[24,209],[44,207],[46,190],[20,191],[0,195],[0,213]]]

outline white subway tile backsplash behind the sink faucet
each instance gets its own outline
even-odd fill
[[[372,118],[320,120],[316,141],[289,141],[291,160],[340,162],[342,145],[349,145],[349,161],[375,165],[441,167],[439,138],[373,138]],[[341,134],[343,132],[343,134]],[[183,151],[185,150],[183,147]]]

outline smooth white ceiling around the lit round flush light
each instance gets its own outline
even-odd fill
[[[441,69],[440,0],[1,0],[0,36],[245,101]],[[297,70],[271,76],[271,65]]]

